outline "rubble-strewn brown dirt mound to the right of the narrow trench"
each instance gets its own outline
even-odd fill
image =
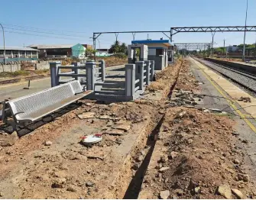
[[[185,61],[172,98],[166,102],[139,198],[255,198],[255,182],[244,169],[245,151],[232,130],[235,121],[193,108],[193,99],[188,101],[189,108],[177,105],[186,106],[180,103],[181,95],[186,95],[187,102],[200,90]],[[168,108],[173,102],[175,106]]]

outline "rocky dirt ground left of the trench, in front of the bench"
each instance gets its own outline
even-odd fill
[[[7,147],[0,152],[0,198],[122,198],[134,176],[134,156],[147,150],[161,108],[145,100],[83,100],[19,130],[20,138],[2,131],[0,144]],[[103,140],[79,144],[88,134],[103,134]]]

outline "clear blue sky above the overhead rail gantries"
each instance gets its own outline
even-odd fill
[[[246,0],[13,0],[2,1],[1,7],[0,22],[5,27],[5,45],[23,47],[30,44],[92,44],[89,37],[97,31],[242,26],[245,25]],[[256,0],[248,0],[248,25],[256,25],[255,10]],[[159,39],[164,34],[149,34],[148,37]],[[216,46],[222,46],[224,38],[226,45],[243,43],[241,32],[216,33]],[[147,39],[147,34],[136,34],[135,39]],[[255,39],[255,32],[247,33],[246,43],[252,44]],[[109,47],[114,40],[115,34],[99,37],[101,48]],[[130,44],[132,34],[119,34],[118,40]],[[180,33],[173,36],[173,40],[174,43],[210,42],[212,35]],[[98,41],[96,45],[99,48]]]

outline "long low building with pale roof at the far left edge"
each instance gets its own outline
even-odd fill
[[[5,54],[5,56],[4,56]],[[37,60],[38,50],[30,47],[0,47],[0,60]]]

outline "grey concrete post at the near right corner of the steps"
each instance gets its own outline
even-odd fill
[[[125,65],[125,96],[134,99],[135,90],[135,65]]]

